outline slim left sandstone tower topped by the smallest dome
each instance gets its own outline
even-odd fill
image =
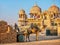
[[[18,26],[26,25],[27,15],[23,9],[19,11]]]

